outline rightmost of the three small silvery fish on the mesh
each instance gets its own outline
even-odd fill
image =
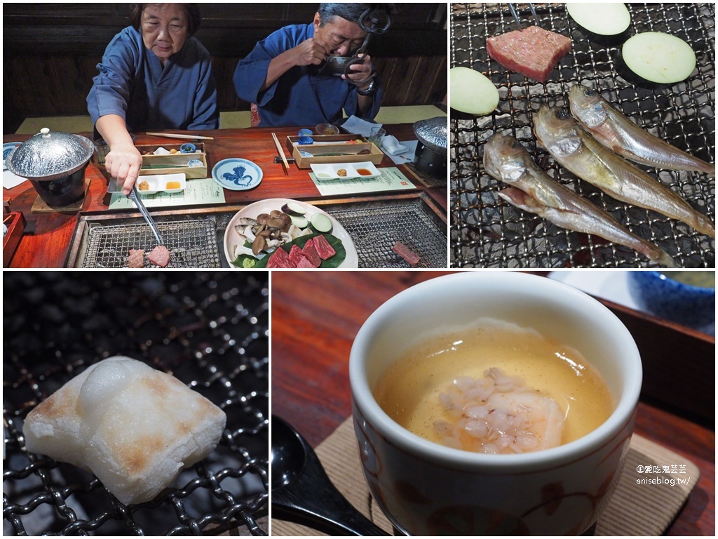
[[[571,112],[605,147],[626,159],[668,170],[694,170],[716,175],[716,165],[694,157],[641,129],[600,93],[577,84],[569,91]]]

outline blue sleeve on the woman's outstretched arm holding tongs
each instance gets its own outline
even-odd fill
[[[88,93],[88,113],[93,125],[106,114],[117,114],[126,118],[130,98],[130,81],[135,66],[139,64],[139,50],[129,37],[129,29],[117,34],[107,46],[99,74],[93,78],[93,87]]]

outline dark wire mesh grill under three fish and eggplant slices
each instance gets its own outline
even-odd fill
[[[524,26],[533,24],[528,4],[514,4]],[[549,175],[611,213],[631,231],[658,244],[684,267],[715,267],[715,243],[689,226],[604,195],[561,168],[531,132],[542,104],[568,109],[577,83],[600,91],[623,114],[676,147],[715,159],[714,4],[626,4],[633,32],[668,32],[696,52],[694,75],[671,88],[645,90],[615,70],[617,47],[596,45],[569,19],[564,4],[534,4],[540,26],[572,37],[572,50],[546,84],[510,73],[488,57],[486,38],[516,29],[508,4],[452,4],[451,67],[474,68],[497,86],[498,109],[472,119],[452,111],[451,267],[651,267],[626,247],[555,226],[510,206],[497,195],[505,187],[481,163],[482,145],[495,132],[516,137]],[[644,167],[694,208],[714,218],[715,180],[694,172]]]

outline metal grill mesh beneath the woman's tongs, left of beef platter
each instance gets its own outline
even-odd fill
[[[85,256],[80,260],[79,267],[127,267],[130,249],[144,249],[146,252],[154,249],[157,239],[149,226],[142,218],[132,221],[136,222],[91,226]],[[212,218],[157,220],[164,245],[172,254],[168,267],[221,267],[215,227]],[[146,267],[157,267],[148,261],[145,263]]]

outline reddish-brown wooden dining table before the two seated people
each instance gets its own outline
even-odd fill
[[[287,174],[284,173],[284,165],[281,160],[275,162],[278,157],[276,145],[272,133],[275,133],[281,141],[287,157],[291,157],[286,149],[287,137],[296,137],[299,129],[311,126],[295,127],[274,127],[274,128],[250,128],[250,129],[217,129],[213,131],[177,131],[172,133],[185,134],[190,136],[200,135],[212,137],[212,140],[200,140],[205,144],[205,152],[208,160],[208,178],[211,177],[212,167],[220,160],[231,157],[241,157],[250,160],[263,172],[261,183],[251,190],[224,190],[225,206],[244,206],[256,201],[268,198],[292,198],[299,201],[314,201],[322,198],[317,186],[309,177],[310,169],[298,168],[295,164],[289,165]],[[395,136],[400,141],[416,139],[413,124],[385,124],[384,129],[389,135]],[[90,133],[78,133],[92,139]],[[155,137],[144,133],[135,133],[135,144],[182,144],[187,139],[172,139]],[[24,142],[29,135],[6,134],[3,142]],[[191,142],[191,141],[190,141]],[[426,196],[443,212],[444,221],[448,206],[448,190],[446,183],[435,185],[435,182],[426,181],[426,177],[417,173],[407,165],[395,165],[387,156],[383,156],[381,164],[377,167],[398,167],[406,178],[416,186],[416,190],[426,193]],[[89,188],[85,195],[82,208],[79,211],[69,213],[33,213],[33,204],[37,198],[37,192],[29,182],[24,182],[11,189],[4,189],[4,204],[6,210],[22,213],[24,220],[24,231],[19,239],[17,249],[9,260],[6,267],[37,267],[52,268],[65,265],[70,244],[76,234],[78,218],[83,213],[106,212],[113,213],[108,208],[108,177],[104,167],[97,164],[96,158],[90,160],[85,172],[85,178],[89,180]],[[409,190],[407,190],[409,192]],[[384,193],[368,193],[365,198],[381,199]],[[346,197],[345,197],[346,198]],[[162,211],[176,211],[182,213],[187,211],[186,206],[171,208],[163,206]],[[151,211],[156,211],[151,208]],[[158,210],[159,211],[159,210]],[[134,212],[136,213],[136,212]],[[136,213],[139,216],[139,213]]]

